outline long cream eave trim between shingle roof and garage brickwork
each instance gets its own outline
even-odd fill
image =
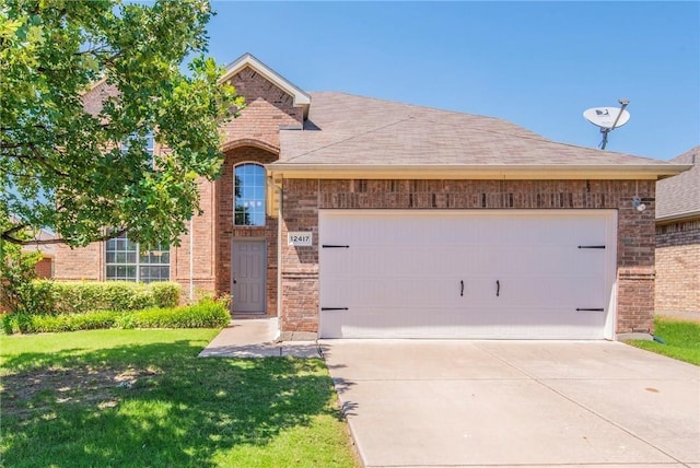
[[[294,164],[267,165],[272,177],[324,179],[649,179],[674,176],[687,164],[660,165],[374,165]]]

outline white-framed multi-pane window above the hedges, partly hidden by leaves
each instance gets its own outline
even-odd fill
[[[139,254],[139,244],[129,241],[126,234],[107,241],[107,280],[168,281],[171,278],[171,250],[167,246]]]

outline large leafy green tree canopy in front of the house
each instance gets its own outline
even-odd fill
[[[206,0],[0,0],[0,219],[14,220],[0,244],[46,243],[26,236],[39,229],[71,246],[177,243],[243,106],[203,56],[211,14]],[[144,149],[151,134],[165,151]]]

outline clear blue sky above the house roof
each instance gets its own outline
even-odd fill
[[[700,2],[212,1],[209,52],[250,52],[306,91],[500,117],[596,148],[584,109],[630,100],[607,150],[700,144]],[[313,103],[312,103],[313,105]]]

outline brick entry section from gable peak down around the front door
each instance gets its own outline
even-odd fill
[[[195,286],[196,289],[231,293],[231,243],[233,237],[267,239],[267,313],[277,314],[277,220],[268,218],[264,227],[233,226],[233,168],[242,162],[270,163],[278,159],[279,129],[299,126],[302,109],[293,107],[293,98],[249,67],[233,75],[230,82],[246,107],[238,118],[222,126],[225,133],[225,160],[221,177],[214,183],[201,183],[202,214],[195,218]],[[266,149],[266,150],[264,150]],[[180,237],[175,250],[176,281],[188,289],[189,234]],[[235,311],[235,297],[233,300]]]

